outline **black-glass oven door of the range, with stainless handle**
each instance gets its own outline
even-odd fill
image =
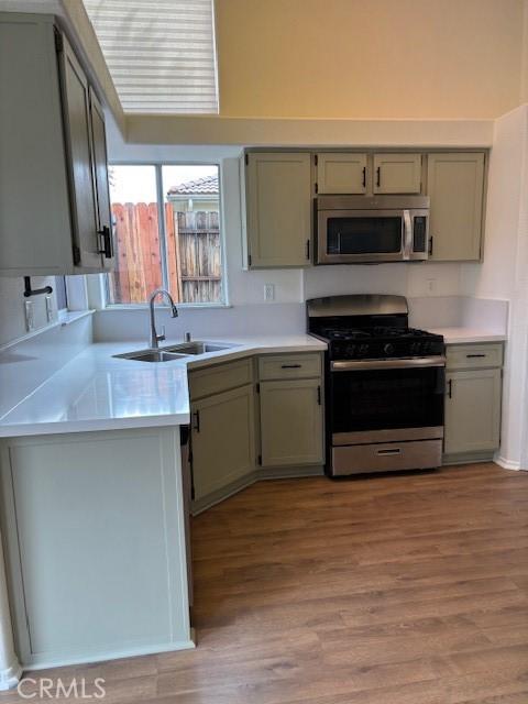
[[[332,362],[332,444],[443,437],[446,358]]]

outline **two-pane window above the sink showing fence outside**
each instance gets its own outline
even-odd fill
[[[110,167],[116,271],[109,304],[145,304],[160,286],[180,304],[221,304],[217,164]]]

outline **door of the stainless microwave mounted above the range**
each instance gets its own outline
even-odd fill
[[[319,210],[317,229],[318,264],[408,258],[408,210]]]

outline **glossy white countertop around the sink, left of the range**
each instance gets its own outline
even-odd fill
[[[216,341],[237,346],[156,364],[112,356],[144,349],[141,341],[91,344],[0,418],[0,437],[185,425],[190,415],[187,369],[258,353],[326,349],[306,334]],[[167,340],[163,346],[178,342]],[[21,362],[12,365],[13,374],[23,373]]]

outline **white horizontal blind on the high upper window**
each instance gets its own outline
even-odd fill
[[[218,113],[213,0],[84,0],[125,112]]]

